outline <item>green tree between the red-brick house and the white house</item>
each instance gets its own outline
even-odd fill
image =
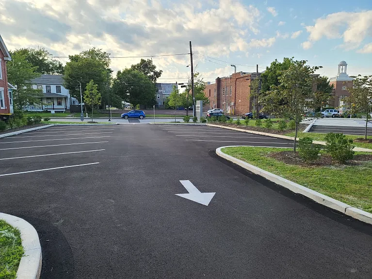
[[[14,53],[12,55],[13,62],[8,64],[8,82],[16,86],[13,91],[14,104],[22,110],[27,103],[41,103],[40,98],[43,93],[39,89],[32,88],[32,80],[40,77],[37,73],[37,66],[32,66],[27,62],[26,55]]]

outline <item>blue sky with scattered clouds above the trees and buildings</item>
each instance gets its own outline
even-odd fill
[[[372,75],[371,0],[1,0],[0,34],[8,49],[44,47],[54,56],[97,47],[113,57],[153,56],[158,82],[205,81],[254,72],[284,57],[349,75]],[[66,58],[59,58],[63,63]],[[114,71],[141,58],[112,58]],[[146,58],[147,59],[147,58]]]

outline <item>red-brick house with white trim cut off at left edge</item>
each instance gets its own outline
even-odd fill
[[[0,120],[13,114],[13,99],[9,98],[6,63],[11,61],[10,53],[0,35]]]

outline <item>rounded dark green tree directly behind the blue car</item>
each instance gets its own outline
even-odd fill
[[[139,104],[154,103],[156,95],[156,86],[146,75],[128,68],[117,71],[112,90],[114,94],[131,103],[133,107]]]

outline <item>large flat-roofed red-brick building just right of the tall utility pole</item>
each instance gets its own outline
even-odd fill
[[[233,115],[252,112],[250,84],[251,79],[255,78],[256,73],[238,72],[228,77],[218,77],[214,83],[207,84],[204,94],[210,100],[210,109],[220,108],[226,114]]]

